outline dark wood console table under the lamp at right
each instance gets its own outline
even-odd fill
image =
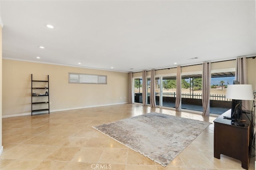
[[[253,136],[253,128],[250,120],[243,113],[246,120],[244,127],[232,125],[232,121],[223,117],[231,116],[231,109],[214,120],[214,158],[220,159],[220,154],[230,156],[242,162],[242,168],[248,170],[250,141]],[[250,118],[251,114],[247,114]]]

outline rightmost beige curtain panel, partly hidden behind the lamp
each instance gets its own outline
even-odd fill
[[[247,74],[247,60],[246,57],[237,57],[236,58],[236,81],[239,81],[240,84],[248,84],[248,74]],[[250,110],[250,101],[243,100],[242,106],[247,110]]]

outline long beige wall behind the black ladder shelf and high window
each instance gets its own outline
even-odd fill
[[[50,111],[128,102],[128,73],[9,59],[2,60],[2,69],[4,117],[31,112],[31,74],[35,80],[49,75]],[[108,84],[71,84],[68,73],[107,75]]]

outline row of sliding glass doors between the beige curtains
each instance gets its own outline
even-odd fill
[[[226,88],[232,84],[234,71],[212,73],[210,91],[210,113],[221,114],[231,108],[230,99],[226,99]],[[142,103],[142,78],[134,78],[134,102]],[[150,83],[146,83],[146,104],[150,105]],[[175,108],[176,75],[155,77],[156,106]],[[202,73],[182,75],[182,109],[203,111],[202,108]]]

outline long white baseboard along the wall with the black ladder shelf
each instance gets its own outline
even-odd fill
[[[69,110],[75,110],[75,109],[85,109],[85,108],[91,108],[91,107],[102,107],[102,106],[111,106],[111,105],[122,105],[122,104],[126,104],[126,103],[128,103],[128,102],[123,102],[123,103],[110,103],[110,104],[105,104],[105,105],[92,105],[92,106],[84,106],[84,107],[74,107],[74,108],[66,108],[66,109],[56,109],[56,110],[50,110],[50,113],[59,112],[59,111],[69,111]],[[36,112],[36,113],[33,113],[33,115],[41,114],[41,113],[48,113],[48,111]],[[4,116],[2,116],[2,118],[16,117],[16,116],[25,116],[25,115],[31,115],[31,112],[29,112],[29,113],[14,114],[14,115],[4,115]]]

